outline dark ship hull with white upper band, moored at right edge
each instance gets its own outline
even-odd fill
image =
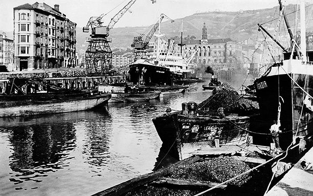
[[[297,61],[284,61],[281,67],[272,67],[266,76],[254,84],[264,132],[269,133],[273,120],[277,120],[279,102],[281,103],[280,130],[287,132],[279,136],[283,149],[295,137],[312,134],[313,130],[312,111],[304,104],[307,95],[301,89],[313,95],[313,69],[311,65],[303,65],[301,61]]]

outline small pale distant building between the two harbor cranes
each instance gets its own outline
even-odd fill
[[[122,49],[115,49],[112,51],[112,68],[120,68],[133,62],[133,52],[127,48],[126,51]]]

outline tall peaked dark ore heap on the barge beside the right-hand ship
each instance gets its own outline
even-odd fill
[[[224,108],[225,113],[240,114],[256,111],[258,104],[241,97],[228,83],[222,83],[207,100],[198,105],[199,109],[209,111],[217,111],[220,107]]]

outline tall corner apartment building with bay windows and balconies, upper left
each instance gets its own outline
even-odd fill
[[[47,4],[13,8],[15,70],[38,70],[76,65],[76,23]]]

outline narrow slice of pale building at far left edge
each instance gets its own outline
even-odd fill
[[[0,64],[5,65],[8,71],[13,70],[14,42],[5,33],[0,34]]]

